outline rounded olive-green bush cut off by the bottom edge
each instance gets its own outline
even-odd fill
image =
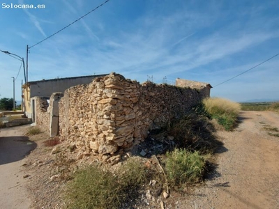
[[[118,208],[121,195],[121,185],[116,176],[91,166],[77,171],[68,185],[67,208]]]

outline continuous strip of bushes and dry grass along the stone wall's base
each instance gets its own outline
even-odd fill
[[[170,122],[160,134],[174,137],[173,144],[160,155],[160,161],[157,157],[156,162],[130,157],[113,172],[100,164],[79,169],[66,187],[67,208],[125,208],[124,203],[135,201],[142,192],[151,189],[151,180],[163,185],[166,191],[169,187],[180,189],[186,184],[199,183],[207,160],[221,144],[213,135],[209,118],[232,130],[239,109],[239,104],[228,100],[206,99],[186,116]],[[61,159],[61,167],[65,167],[68,161]]]

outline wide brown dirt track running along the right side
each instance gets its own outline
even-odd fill
[[[279,114],[242,111],[240,120],[234,132],[218,133],[224,147],[213,179],[181,208],[279,208],[279,135],[270,135],[279,134]]]

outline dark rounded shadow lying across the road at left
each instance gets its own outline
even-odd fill
[[[29,137],[0,137],[0,165],[22,160],[36,147]]]

